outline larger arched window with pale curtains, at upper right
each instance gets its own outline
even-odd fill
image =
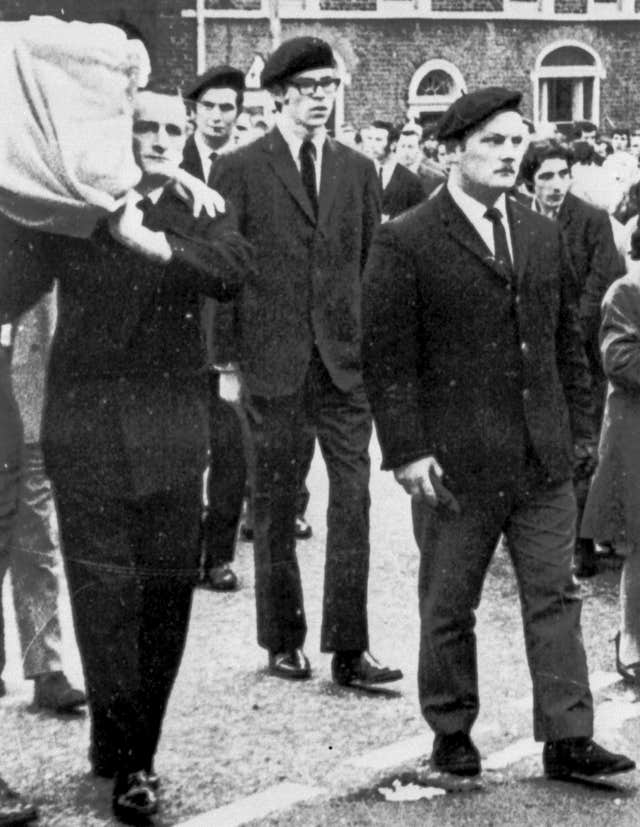
[[[597,52],[565,40],[547,46],[531,73],[537,123],[600,120],[600,80],[606,77]]]

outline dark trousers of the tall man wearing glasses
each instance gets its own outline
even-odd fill
[[[252,397],[256,454],[254,546],[258,643],[302,646],[307,624],[295,552],[300,441],[315,429],[329,475],[321,650],[368,648],[369,440],[364,388],[335,387],[314,354],[294,395]]]

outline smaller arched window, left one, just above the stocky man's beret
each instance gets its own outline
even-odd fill
[[[448,60],[427,60],[411,78],[408,116],[422,123],[436,121],[466,91],[460,70]]]

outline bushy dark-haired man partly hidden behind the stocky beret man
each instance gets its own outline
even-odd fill
[[[609,285],[624,275],[611,221],[604,210],[587,204],[569,192],[571,150],[551,138],[532,141],[521,166],[522,178],[533,195],[533,209],[557,220],[567,244],[569,258],[577,277],[577,302],[589,372],[591,374],[596,426],[604,408],[606,381],[600,361],[598,331],[600,304]],[[574,482],[578,505],[578,530],[589,491],[593,458],[576,458]],[[576,574],[590,576],[597,571],[597,556],[591,540],[576,539]]]

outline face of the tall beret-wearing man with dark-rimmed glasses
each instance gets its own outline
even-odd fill
[[[282,114],[306,132],[314,132],[329,120],[338,84],[331,67],[298,72],[284,81],[284,88],[277,94]]]

